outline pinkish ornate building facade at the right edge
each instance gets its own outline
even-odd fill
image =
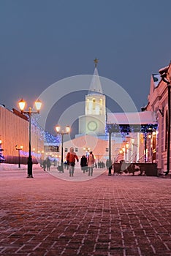
[[[167,77],[171,78],[171,65],[166,67]],[[156,154],[156,163],[159,171],[167,170],[167,147],[168,145],[168,126],[169,124],[169,110],[168,110],[168,90],[167,83],[161,80],[159,73],[151,75],[151,86],[148,94],[148,105],[145,110],[154,111],[157,116],[158,132],[155,136],[151,137],[151,144],[153,151],[148,146],[148,151]],[[156,144],[155,144],[156,143]],[[154,148],[156,147],[156,150]],[[171,164],[171,161],[170,161]]]

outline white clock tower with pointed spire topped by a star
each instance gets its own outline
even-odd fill
[[[99,74],[96,68],[98,60],[94,60],[94,76],[86,95],[85,116],[79,117],[79,134],[104,136],[106,125],[106,97],[102,92]]]

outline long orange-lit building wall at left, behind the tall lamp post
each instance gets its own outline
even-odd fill
[[[18,150],[20,150],[20,161],[26,163],[28,158],[28,117],[18,110],[8,110],[0,105],[0,140],[5,162],[18,163]],[[33,162],[36,163],[41,152],[44,150],[44,140],[39,128],[31,124],[31,154]]]

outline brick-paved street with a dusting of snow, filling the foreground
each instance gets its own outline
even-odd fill
[[[171,255],[170,178],[33,172],[0,170],[0,255]]]

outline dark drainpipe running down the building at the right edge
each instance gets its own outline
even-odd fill
[[[168,124],[167,124],[167,172],[165,173],[165,176],[170,172],[170,80],[167,80],[167,73],[168,67],[164,67],[163,69],[159,70],[159,74],[161,76],[161,80],[164,81],[164,83],[167,83],[167,94],[168,94]]]

